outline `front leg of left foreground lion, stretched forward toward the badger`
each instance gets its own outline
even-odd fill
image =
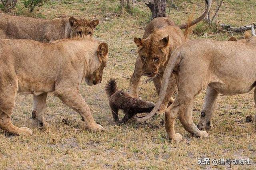
[[[86,127],[94,132],[102,131],[103,127],[95,123],[89,106],[84,101],[82,95],[79,93],[78,86],[67,89],[56,89],[54,94],[68,107],[78,112],[86,123]]]

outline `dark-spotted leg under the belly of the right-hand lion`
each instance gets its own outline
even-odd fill
[[[207,87],[206,95],[204,97],[204,105],[201,111],[200,121],[197,127],[202,130],[209,130],[212,128],[212,113],[214,112],[214,106],[218,97],[218,91]]]

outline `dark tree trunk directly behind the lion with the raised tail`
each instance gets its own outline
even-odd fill
[[[152,13],[152,18],[166,17],[166,0],[149,0],[146,5]]]

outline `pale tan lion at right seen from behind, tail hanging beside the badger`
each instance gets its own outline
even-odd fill
[[[237,42],[197,39],[184,43],[171,54],[164,71],[163,86],[156,107],[146,117],[136,118],[137,121],[148,120],[165,104],[164,98],[173,93],[173,89],[168,89],[168,86],[174,83],[171,79],[174,74],[178,93],[174,103],[165,111],[168,138],[176,141],[182,139],[181,134],[175,133],[174,130],[177,117],[190,134],[208,137],[208,133],[196,127],[192,120],[195,97],[208,85],[204,107],[208,109],[208,114],[211,114],[218,93],[236,95],[248,93],[256,87],[255,45],[256,36]],[[256,89],[254,100],[256,104]]]

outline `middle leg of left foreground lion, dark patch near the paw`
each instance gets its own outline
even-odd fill
[[[34,128],[43,128],[47,125],[44,113],[46,110],[47,93],[33,97],[32,126]]]

